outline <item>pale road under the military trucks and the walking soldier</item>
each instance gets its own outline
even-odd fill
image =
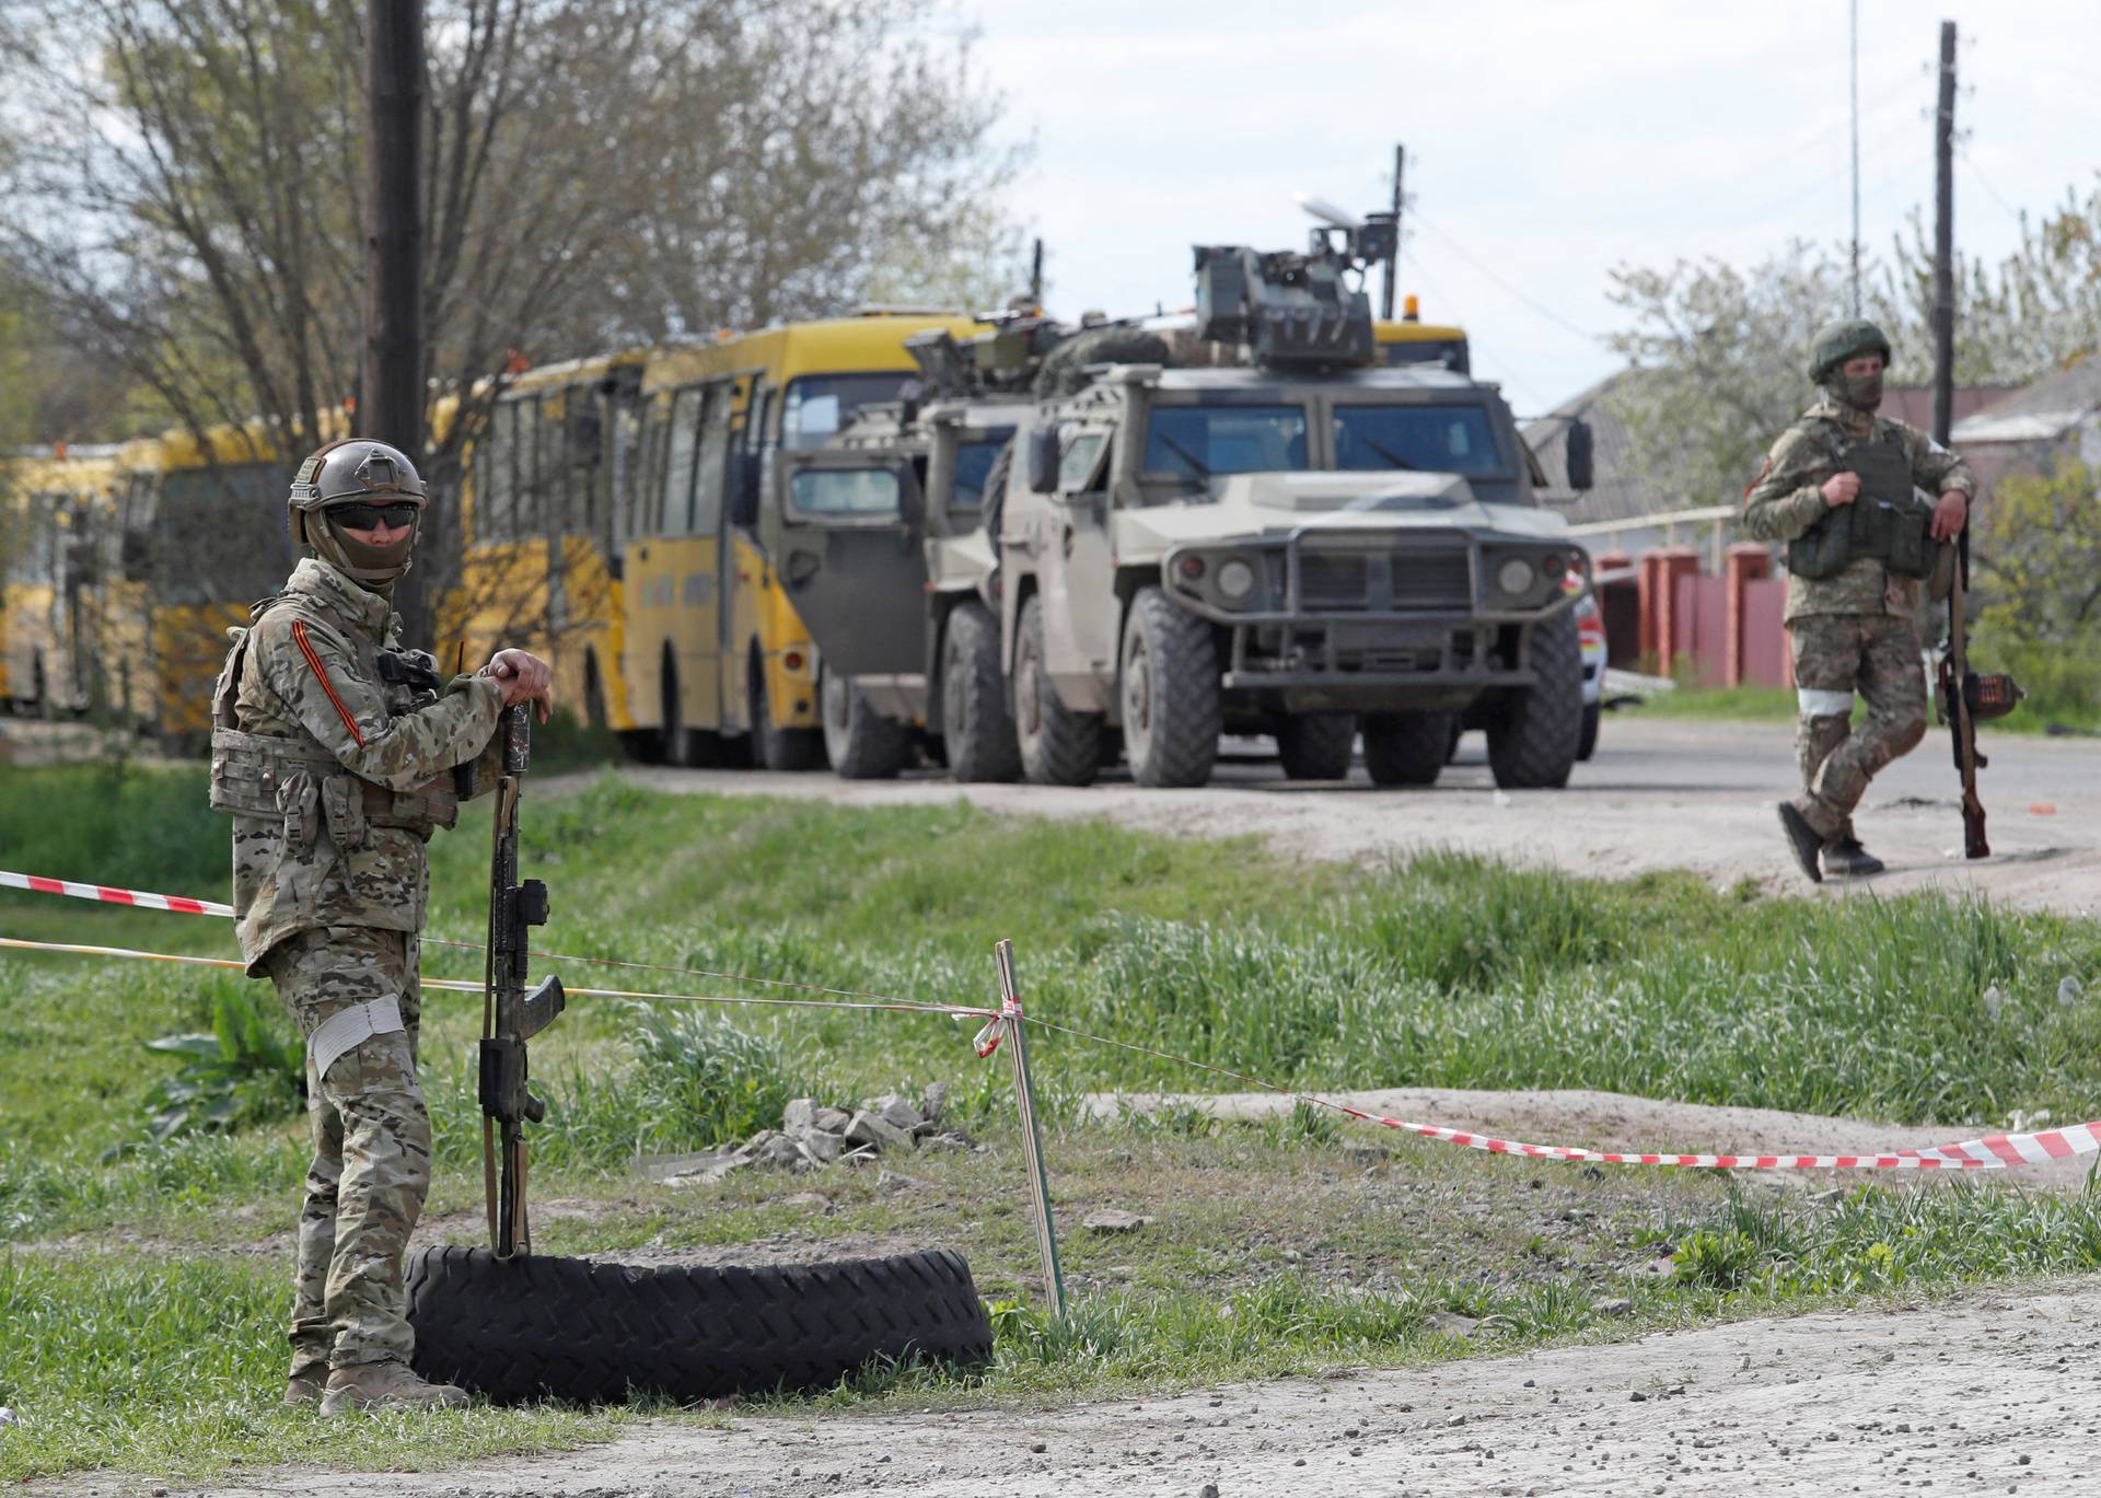
[[[1252,746],[1252,742],[1250,742]],[[1962,859],[1962,817],[1946,735],[1929,735],[1870,788],[1857,819],[1887,864],[1880,878],[1822,889],[1981,889],[2017,906],[2090,914],[2101,908],[2101,742],[1985,737],[1983,773],[1994,857]],[[821,796],[843,805],[966,796],[987,811],[1114,817],[1156,832],[1252,832],[1322,859],[1380,859],[1422,847],[1466,847],[1582,874],[1689,868],[1719,882],[1756,878],[1809,889],[1773,819],[1794,773],[1792,729],[1767,723],[1672,723],[1607,716],[1597,756],[1567,790],[1496,790],[1479,733],[1431,790],[1378,790],[1361,765],[1349,784],[1292,784],[1273,761],[1229,758],[1206,790],[1099,786],[956,786],[920,773],[843,782],[830,773],[632,769],[670,790]]]

